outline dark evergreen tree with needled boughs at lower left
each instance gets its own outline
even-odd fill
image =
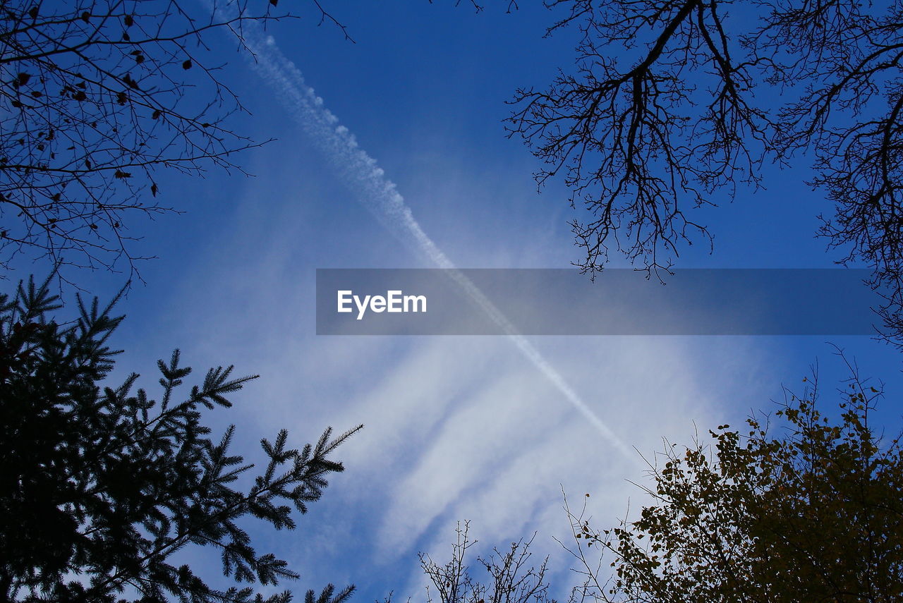
[[[79,318],[60,323],[49,282],[0,295],[0,598],[54,601],[288,601],[250,586],[219,590],[188,565],[170,562],[186,547],[214,547],[237,583],[296,579],[286,561],[256,552],[243,526],[256,517],[277,530],[295,526],[320,498],[341,442],[327,429],[315,445],[288,447],[288,433],[262,440],[268,461],[229,451],[234,426],[218,440],[201,410],[228,407],[256,376],[211,368],[187,392],[191,368],[179,351],[158,362],[162,395],[135,390],[133,374],[107,383],[121,350],[109,338],[123,317],[79,298]],[[353,587],[329,585],[308,603],[342,603]]]

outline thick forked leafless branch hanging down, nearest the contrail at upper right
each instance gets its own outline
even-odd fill
[[[720,3],[546,4],[570,7],[549,32],[577,24],[577,72],[561,71],[543,91],[519,89],[509,132],[548,163],[538,181],[562,175],[572,204],[591,213],[572,225],[584,269],[605,264],[612,244],[667,268],[694,233],[709,238],[687,206],[759,181],[771,125],[747,94],[759,59],[735,58]],[[623,65],[612,48],[637,58]]]

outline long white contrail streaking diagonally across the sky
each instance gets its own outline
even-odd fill
[[[564,398],[573,404],[573,407],[582,413],[625,458],[634,460],[635,455],[614,431],[591,411],[539,350],[517,332],[496,305],[489,301],[479,287],[462,274],[442,249],[433,243],[433,239],[424,233],[405,199],[396,189],[395,183],[386,178],[385,172],[377,167],[377,161],[373,157],[358,147],[358,142],[348,128],[339,125],[339,118],[323,106],[323,99],[304,82],[301,71],[291,60],[285,58],[276,46],[273,36],[265,34],[257,23],[245,23],[243,27],[242,40],[247,51],[253,55],[251,60],[254,69],[275,89],[279,100],[289,110],[294,121],[326,155],[349,186],[353,190],[358,190],[362,203],[396,236],[402,240],[406,239],[407,242],[413,242],[433,264],[446,269],[470,299],[507,334],[521,354],[552,382]]]

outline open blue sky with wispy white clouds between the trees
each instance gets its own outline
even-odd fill
[[[558,67],[570,68],[573,32],[544,39],[553,15],[532,3],[513,14],[504,3],[481,14],[465,4],[343,3],[335,16],[356,43],[317,27],[312,12],[267,34],[454,264],[566,267],[580,258],[567,226],[573,210],[560,182],[537,193],[538,165],[505,137],[501,119],[515,88],[541,87]],[[159,258],[142,266],[146,283],[121,304],[120,369],[144,373],[153,388],[156,358],[179,347],[199,371],[235,364],[259,373],[234,409],[210,417],[220,427],[236,422],[236,450],[252,459],[256,441],[283,427],[300,444],[326,425],[366,425],[339,451],[347,471],[298,530],[260,533],[261,548],[302,573],[299,590],[355,582],[358,601],[390,590],[422,598],[416,553],[447,558],[455,523],[469,519],[485,546],[537,531],[535,550],[553,555],[562,594],[572,586],[553,540],[568,530],[562,489],[591,493],[597,524],[612,524],[628,499],[641,500],[626,481],[642,478],[638,455],[614,450],[507,338],[314,335],[316,268],[433,264],[386,227],[368,191],[305,134],[278,82],[225,37],[215,52],[253,114],[237,127],[278,140],[238,160],[254,178],[214,170],[202,180],[160,181],[164,199],[185,214],[138,227],[141,245]],[[831,266],[835,256],[813,237],[816,214],[829,208],[803,184],[805,168],[804,160],[769,172],[767,190],[740,190],[733,203],[701,212],[714,253],[685,249],[678,266]],[[79,278],[101,297],[122,284],[117,275]],[[829,400],[845,375],[826,339],[530,341],[622,441],[648,456],[662,438],[688,442],[697,428],[768,409],[816,361]],[[896,352],[865,337],[831,341],[863,375],[886,381],[891,396],[899,391]],[[895,404],[882,411],[898,424]]]

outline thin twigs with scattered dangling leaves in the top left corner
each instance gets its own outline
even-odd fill
[[[176,210],[155,174],[237,168],[234,153],[260,144],[230,129],[244,107],[207,51],[214,30],[240,44],[244,23],[287,16],[277,4],[4,2],[0,266],[27,253],[134,273],[126,221]],[[317,0],[305,9],[344,32]]]

